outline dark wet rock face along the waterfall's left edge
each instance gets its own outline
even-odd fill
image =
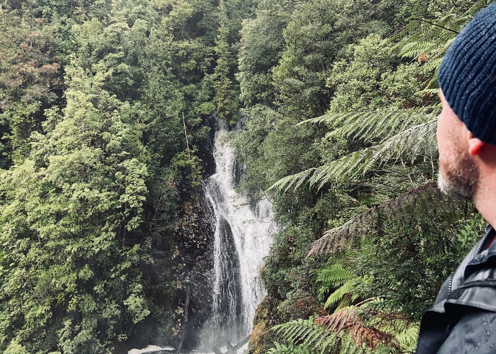
[[[203,178],[215,173],[212,155],[215,119],[204,124],[210,127],[208,138],[200,147]],[[214,231],[210,217],[211,205],[206,201],[203,188],[184,194],[181,218],[175,230],[175,244],[179,262],[177,309],[174,313],[172,332],[176,348],[197,348],[201,342],[202,328],[212,314],[212,271]]]

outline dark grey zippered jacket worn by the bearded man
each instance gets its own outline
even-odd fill
[[[420,326],[417,354],[496,354],[496,240],[486,236],[444,282]]]

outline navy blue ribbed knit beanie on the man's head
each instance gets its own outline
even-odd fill
[[[455,38],[439,67],[439,87],[474,137],[496,145],[496,3]]]

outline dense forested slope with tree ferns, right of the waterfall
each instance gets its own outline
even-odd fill
[[[251,353],[411,353],[483,232],[436,186],[437,68],[486,1],[263,1],[239,70],[244,187],[283,231]],[[275,327],[273,327],[275,326]]]

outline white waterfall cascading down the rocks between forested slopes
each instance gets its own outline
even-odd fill
[[[234,148],[223,142],[226,125],[218,121],[213,156],[216,173],[205,183],[214,234],[212,343],[225,345],[246,337],[256,306],[265,295],[259,275],[276,231],[271,202],[250,202],[236,191],[242,174]]]

